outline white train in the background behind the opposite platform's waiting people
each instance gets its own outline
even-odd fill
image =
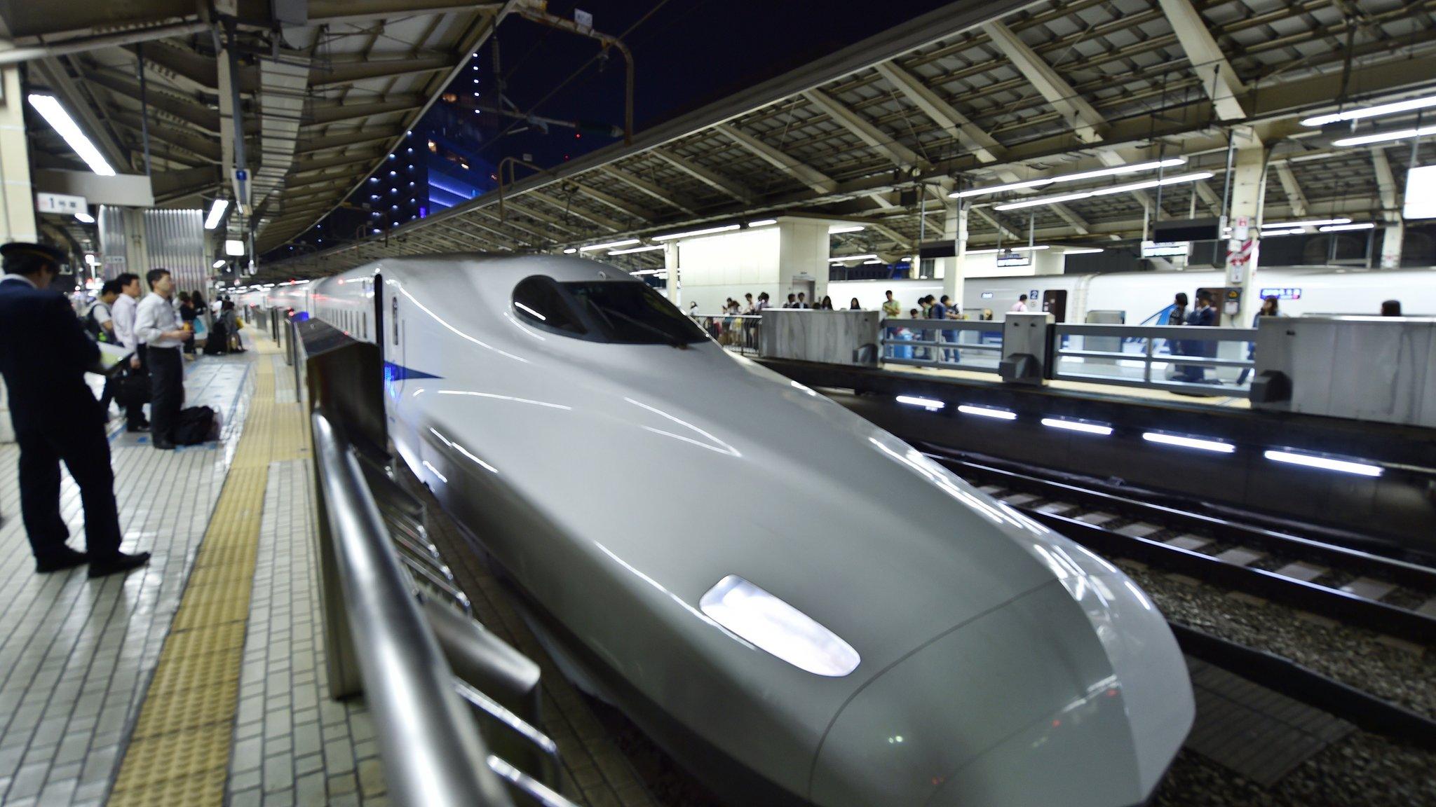
[[[1178,291],[1192,300],[1198,289],[1226,286],[1221,271],[1113,271],[1103,274],[1035,274],[1018,277],[968,277],[962,284],[962,310],[979,314],[991,309],[995,319],[1017,302],[1018,294],[1067,291],[1067,322],[1086,322],[1087,312],[1124,312],[1127,325],[1140,325],[1172,304]],[[1259,269],[1258,291],[1281,293],[1281,310],[1302,314],[1376,314],[1383,300],[1402,300],[1407,314],[1436,314],[1436,271],[1406,269],[1391,271],[1334,271],[1330,269]],[[864,309],[882,306],[883,291],[908,309],[918,297],[942,296],[942,280],[843,280],[831,281],[827,294],[834,304],[853,297]],[[763,291],[763,289],[755,289]],[[1035,309],[1032,309],[1035,310]],[[1249,325],[1249,323],[1246,323]]]

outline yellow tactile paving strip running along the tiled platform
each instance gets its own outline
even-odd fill
[[[267,342],[256,347],[244,434],[125,750],[112,807],[224,804],[269,467],[309,457],[299,405],[274,401],[269,355],[277,350]]]

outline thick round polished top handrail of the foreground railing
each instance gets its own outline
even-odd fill
[[[389,798],[406,807],[513,807],[414,597],[353,452],[310,416],[345,615],[378,725]],[[507,778],[507,777],[505,777]]]

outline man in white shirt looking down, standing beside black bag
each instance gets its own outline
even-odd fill
[[[149,294],[135,312],[135,339],[145,345],[145,366],[149,368],[149,416],[155,448],[175,447],[175,422],[184,404],[184,356],[180,350],[190,335],[169,303],[175,281],[168,269],[151,269],[145,276]]]

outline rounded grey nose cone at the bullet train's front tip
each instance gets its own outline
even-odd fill
[[[1165,623],[1157,626],[1165,646],[1160,638],[1144,639],[1150,665],[1133,663],[1129,639],[1113,633],[1162,619],[1144,597],[1136,602],[1136,589],[1126,592],[1124,580],[1086,579],[1084,586],[1099,583],[1111,594],[1096,606],[1083,603],[1084,592],[1053,582],[938,636],[867,682],[823,740],[811,801],[1140,803],[1190,728],[1192,695]],[[1153,616],[1133,613],[1143,609]],[[1134,626],[1139,633],[1152,628]],[[1139,708],[1149,714],[1129,717]],[[1153,734],[1152,721],[1169,724],[1167,731]]]

